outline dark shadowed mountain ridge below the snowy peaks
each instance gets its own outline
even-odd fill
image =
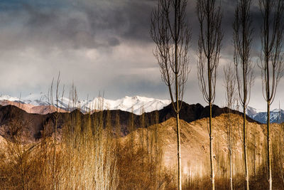
[[[213,117],[217,117],[222,113],[229,112],[227,107],[220,108],[217,105],[212,107]],[[235,114],[241,115],[241,112],[231,110]],[[163,107],[162,110],[153,112],[146,112],[143,115],[135,115],[131,112],[125,112],[121,110],[104,110],[101,112],[94,112],[92,115],[84,115],[79,110],[66,113],[49,113],[46,115],[31,114],[21,110],[13,105],[0,106],[0,134],[4,137],[9,137],[18,133],[22,133],[29,140],[37,140],[44,135],[51,135],[54,132],[55,120],[58,118],[58,131],[64,126],[72,125],[72,122],[80,120],[78,125],[84,126],[84,122],[87,121],[87,117],[91,119],[91,122],[100,122],[103,127],[111,125],[114,128],[120,128],[121,134],[126,135],[131,132],[131,124],[133,129],[140,127],[148,127],[165,120],[170,117],[175,117],[175,111],[172,105]],[[192,122],[195,120],[209,117],[209,107],[203,107],[200,104],[188,105],[182,103],[182,109],[180,110],[180,119],[186,122]],[[76,119],[77,118],[77,119]],[[247,117],[249,122],[256,122]],[[93,125],[97,126],[97,125]],[[114,130],[115,131],[115,130]]]

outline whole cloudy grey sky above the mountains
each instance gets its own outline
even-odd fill
[[[65,92],[75,84],[80,98],[107,99],[141,95],[169,99],[168,88],[160,79],[150,36],[151,11],[156,0],[1,0],[0,1],[0,94],[26,96],[48,93],[60,71]],[[224,38],[217,70],[215,104],[225,105],[224,74],[233,64],[232,23],[236,1],[222,0]],[[187,19],[192,28],[191,72],[184,100],[200,102],[197,80],[197,38],[199,25],[196,1],[188,1]],[[251,56],[261,51],[261,14],[253,0],[253,46]],[[255,83],[249,106],[266,109],[261,87],[261,71],[255,67]],[[283,81],[273,103],[284,107]],[[68,94],[68,93],[66,93]]]

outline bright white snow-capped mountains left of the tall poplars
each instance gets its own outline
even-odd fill
[[[84,112],[92,110],[123,110],[133,112],[136,115],[141,115],[143,112],[161,110],[163,107],[170,104],[170,100],[158,100],[141,96],[126,96],[118,100],[108,100],[102,97],[95,97],[93,100],[72,100],[72,98],[60,97],[58,101],[56,101],[50,100],[43,93],[40,93],[40,95],[30,94],[27,97],[21,98],[11,97],[9,95],[0,96],[0,102],[6,100],[34,106],[58,105],[60,109],[67,111],[74,110],[75,108],[80,108]]]

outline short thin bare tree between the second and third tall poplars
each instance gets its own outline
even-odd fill
[[[227,126],[227,145],[229,149],[229,165],[230,165],[230,189],[233,190],[233,164],[232,164],[232,119],[231,110],[234,107],[236,96],[236,78],[234,70],[231,66],[224,67],[224,87],[226,89],[226,106],[228,109],[228,126]]]

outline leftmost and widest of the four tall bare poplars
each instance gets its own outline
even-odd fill
[[[160,73],[168,86],[170,100],[176,113],[178,141],[178,189],[182,189],[180,157],[179,113],[185,83],[190,73],[190,27],[186,21],[187,0],[158,0],[158,7],[151,15],[151,36],[156,48],[154,56],[160,65]]]

